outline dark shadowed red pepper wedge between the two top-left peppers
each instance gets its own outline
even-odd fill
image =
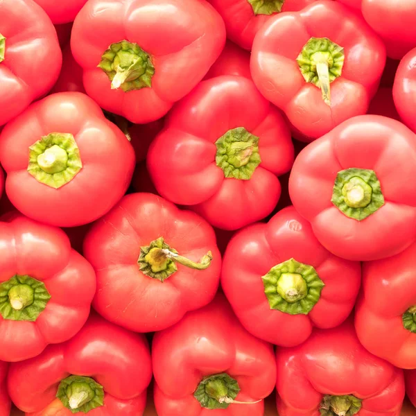
[[[83,92],[83,69],[73,59],[71,45],[67,44],[62,50],[62,69],[52,91],[55,92]]]

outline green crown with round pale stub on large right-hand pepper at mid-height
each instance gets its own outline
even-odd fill
[[[349,168],[338,172],[331,202],[345,216],[364,220],[384,205],[376,173],[370,169]]]

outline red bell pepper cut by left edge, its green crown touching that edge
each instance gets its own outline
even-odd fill
[[[1,219],[0,360],[21,361],[83,327],[96,276],[61,229],[19,214]]]

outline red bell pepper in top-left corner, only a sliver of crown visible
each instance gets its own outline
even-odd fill
[[[49,92],[61,65],[58,37],[42,8],[31,0],[2,0],[0,126]]]

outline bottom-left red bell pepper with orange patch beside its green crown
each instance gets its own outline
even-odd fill
[[[10,365],[8,390],[31,416],[141,416],[151,378],[146,338],[94,314],[71,340]]]

